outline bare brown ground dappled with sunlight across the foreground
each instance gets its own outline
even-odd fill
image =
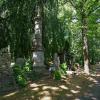
[[[45,77],[24,89],[0,96],[0,100],[100,100],[99,78],[80,75],[55,81]]]

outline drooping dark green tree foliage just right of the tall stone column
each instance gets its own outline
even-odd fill
[[[55,52],[63,52],[69,29],[61,8],[63,0],[48,0],[44,5],[43,45],[46,60],[52,59]],[[67,48],[67,47],[66,47]]]

